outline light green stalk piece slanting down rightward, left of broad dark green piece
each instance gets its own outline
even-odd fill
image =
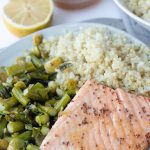
[[[20,90],[20,88],[17,88],[17,87],[14,87],[12,89],[12,93],[14,95],[14,97],[23,105],[23,106],[26,106],[30,99],[25,97],[22,93],[22,91]]]

